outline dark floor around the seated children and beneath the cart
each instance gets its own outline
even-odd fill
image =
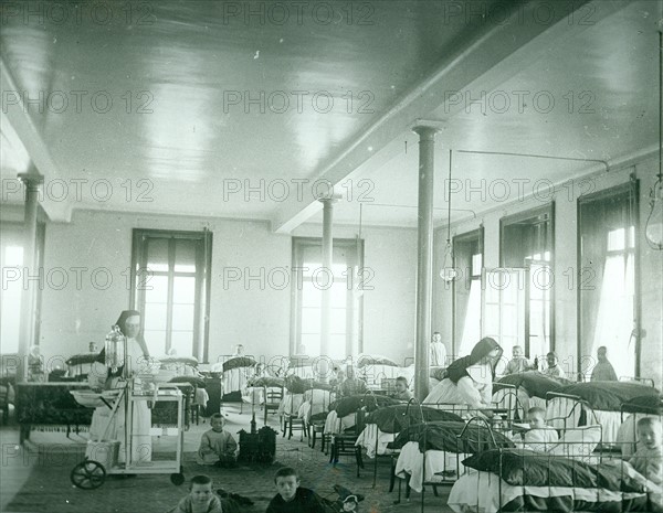
[[[227,415],[227,429],[233,434],[240,429],[249,430],[251,412],[250,407],[244,405],[243,413],[240,414],[239,404],[225,404],[223,413]],[[97,490],[84,492],[73,489],[69,482],[69,473],[73,466],[84,453],[85,434],[72,435],[70,439],[62,432],[41,432],[33,431],[30,442],[25,447],[19,447],[18,426],[10,425],[0,428],[0,442],[2,446],[2,466],[0,469],[0,512],[6,513],[60,513],[85,511],[85,501],[98,501],[106,503],[107,510],[95,507],[95,512],[126,512],[134,513],[136,510],[128,504],[137,493],[144,493],[147,498],[150,493],[161,500],[149,501],[146,499],[141,503],[139,511],[141,513],[161,513],[166,511],[164,503],[177,503],[178,498],[186,494],[186,487],[173,487],[167,478],[150,479],[139,475],[129,480],[109,480]],[[262,426],[262,413],[259,415],[257,426]],[[270,415],[269,425],[278,429],[276,415]],[[361,493],[366,500],[360,503],[360,513],[383,513],[383,512],[419,512],[421,511],[421,495],[412,492],[410,501],[406,501],[404,493],[402,502],[394,504],[398,496],[397,490],[388,493],[389,488],[389,462],[382,459],[378,468],[377,485],[372,488],[373,461],[366,459],[366,469],[361,471],[360,478],[356,477],[356,464],[350,456],[343,456],[337,466],[328,462],[328,456],[319,450],[319,441],[315,449],[308,447],[307,439],[301,441],[301,434],[295,432],[291,440],[283,438],[281,432],[276,440],[276,460],[274,466],[263,468],[257,472],[251,468],[240,466],[235,470],[222,470],[207,467],[198,467],[193,462],[192,453],[198,449],[200,436],[208,430],[210,425],[201,419],[198,426],[193,425],[185,434],[185,455],[188,463],[187,478],[190,479],[193,473],[208,473],[217,483],[215,487],[224,488],[233,493],[251,498],[255,504],[245,507],[243,511],[264,512],[271,496],[275,490],[272,481],[273,473],[281,466],[291,466],[299,469],[302,473],[302,485],[315,489],[320,495],[335,499],[333,491],[334,484],[340,484],[349,488],[355,493]],[[239,439],[239,436],[235,436]],[[152,441],[154,450],[168,450],[168,443],[159,439]],[[52,448],[55,445],[59,448],[57,458],[43,458],[45,448]],[[42,457],[40,457],[42,455]],[[66,456],[65,456],[66,455]],[[35,475],[44,477],[43,483],[34,483]],[[65,479],[66,478],[66,479]],[[56,484],[59,483],[59,484]],[[398,488],[398,487],[397,487]],[[404,491],[404,487],[403,487]],[[435,498],[430,491],[425,493],[425,511],[450,512],[445,505],[449,488],[440,489],[440,496]],[[43,493],[49,494],[49,505],[39,505],[35,501],[34,509],[28,506],[30,500],[25,500],[27,494]],[[127,495],[127,496],[125,496]],[[76,500],[77,500],[77,505]],[[83,501],[83,502],[81,502]],[[170,502],[169,502],[170,501]],[[8,506],[12,506],[8,509]],[[61,505],[57,505],[61,504]],[[87,512],[86,512],[87,513]]]

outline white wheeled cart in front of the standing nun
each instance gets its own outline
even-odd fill
[[[106,406],[110,408],[110,415],[104,435],[101,440],[91,440],[85,451],[85,460],[76,464],[71,472],[71,481],[77,488],[84,490],[94,490],[101,487],[106,475],[117,474],[159,474],[169,473],[170,481],[180,485],[185,482],[182,471],[182,449],[183,449],[183,398],[182,393],[173,384],[138,384],[134,380],[123,382],[124,386],[117,389],[115,400],[112,403],[110,395],[94,394],[90,392],[87,396],[81,394],[74,395],[80,404],[88,407]],[[95,397],[96,395],[96,397]],[[134,417],[141,409],[151,417],[151,408],[157,403],[175,403],[177,406],[177,423],[173,427],[151,428],[149,421],[149,432],[136,434]],[[124,423],[122,415],[124,414]],[[124,429],[118,434],[119,439],[106,440],[105,438],[112,431],[114,425],[124,424]],[[124,439],[122,435],[124,434]],[[151,458],[151,445],[146,448],[149,457],[143,455],[143,447],[134,447],[139,436],[158,435],[164,438],[175,438],[175,457],[171,459]],[[123,443],[124,442],[124,443]],[[120,451],[124,453],[124,462],[118,461]],[[138,450],[137,450],[138,449]]]

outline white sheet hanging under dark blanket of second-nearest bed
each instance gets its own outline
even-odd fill
[[[431,481],[439,472],[456,472],[457,460],[464,460],[469,455],[456,455],[443,450],[425,451],[425,469],[423,468],[423,453],[419,451],[419,442],[409,441],[401,449],[396,462],[394,473],[399,478],[410,474],[410,488],[421,492],[423,482]]]

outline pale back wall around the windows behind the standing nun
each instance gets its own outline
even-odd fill
[[[291,236],[272,233],[263,222],[80,211],[71,223],[46,228],[44,276],[50,279],[44,282],[40,344],[51,368],[85,352],[90,341],[101,345],[120,310],[128,308],[133,228],[204,226],[213,233],[210,362],[231,353],[236,343],[250,354],[290,354],[291,289],[267,277],[272,269],[292,265]],[[320,234],[315,226],[297,231],[297,235]],[[350,228],[335,233],[354,235]],[[365,350],[402,360],[411,354],[414,339],[415,232],[376,228],[362,235],[365,265],[375,271],[370,284],[375,289],[365,292]],[[80,286],[73,267],[85,269]],[[231,279],[234,269],[243,279]],[[249,279],[261,272],[264,279]],[[69,282],[61,287],[63,276]],[[108,287],[106,276],[113,279]]]

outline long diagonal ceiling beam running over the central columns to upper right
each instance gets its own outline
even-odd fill
[[[623,0],[581,0],[565,3],[567,9],[552,13],[547,23],[535,22],[535,12],[546,2],[533,1],[519,8],[517,21],[504,25],[487,23],[480,29],[467,44],[451,52],[427,79],[414,86],[373,125],[365,129],[350,145],[316,173],[317,179],[338,184],[351,173],[365,175],[402,152],[402,138],[410,139],[409,127],[418,118],[432,119],[449,127],[449,119],[459,113],[463,105],[445,105],[445,92],[464,90],[481,81],[481,90],[492,90],[512,78],[528,63],[545,55],[564,34],[590,29],[598,21],[621,9],[629,2]],[[587,6],[587,7],[586,7]],[[585,9],[585,11],[581,11]],[[549,11],[547,11],[549,12]],[[591,22],[583,23],[580,14],[591,12]],[[575,18],[572,18],[575,15]],[[522,21],[520,21],[522,20]],[[566,23],[562,23],[567,20]],[[525,50],[527,46],[527,50]],[[431,113],[444,106],[444,119],[433,119]],[[446,128],[450,129],[450,128]],[[444,130],[439,137],[444,145]],[[415,180],[412,170],[412,180]],[[301,223],[320,210],[318,202],[302,204],[290,200],[284,202],[272,221],[276,233],[290,233]]]

